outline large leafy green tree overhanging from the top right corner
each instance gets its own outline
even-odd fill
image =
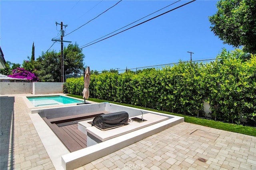
[[[220,0],[209,17],[210,27],[224,43],[256,54],[256,0]]]

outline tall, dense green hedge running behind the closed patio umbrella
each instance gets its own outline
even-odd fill
[[[246,56],[246,57],[244,57]],[[64,92],[82,96],[83,78],[68,78]],[[256,125],[256,55],[225,49],[216,61],[182,63],[135,74],[92,74],[90,96],[103,100],[152,107],[184,115],[204,115],[210,103],[215,120]]]

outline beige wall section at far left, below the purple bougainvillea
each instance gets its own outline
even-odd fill
[[[0,82],[0,94],[30,94],[32,83],[28,82]]]

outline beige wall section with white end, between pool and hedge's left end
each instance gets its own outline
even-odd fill
[[[33,94],[63,93],[62,82],[33,82]]]

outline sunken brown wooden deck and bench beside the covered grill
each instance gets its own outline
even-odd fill
[[[90,115],[76,115],[76,116],[67,116],[60,117],[55,119],[47,119],[43,117],[44,121],[48,124],[48,126],[52,129],[52,131],[56,134],[56,136],[62,141],[62,143],[66,146],[66,148],[70,152],[74,152],[76,150],[80,150],[87,147],[87,135],[78,130],[78,124],[71,124],[66,126],[58,127],[58,123],[70,122],[71,121],[79,121],[86,118],[93,118],[96,115],[109,113],[106,111],[102,112],[94,112],[90,113]]]

